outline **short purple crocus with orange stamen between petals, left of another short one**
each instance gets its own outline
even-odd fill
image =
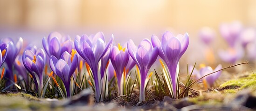
[[[43,49],[38,49],[36,52],[26,49],[23,53],[23,64],[28,72],[35,80],[36,90],[38,88],[42,91],[43,86],[43,68],[45,65],[46,55]],[[38,82],[38,83],[37,83]],[[41,92],[39,92],[41,93]]]

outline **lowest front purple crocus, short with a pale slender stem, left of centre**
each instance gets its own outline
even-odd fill
[[[70,95],[71,76],[74,74],[78,64],[77,55],[74,55],[72,61],[71,61],[71,57],[72,56],[67,51],[65,51],[62,54],[59,60],[55,56],[50,57],[50,68],[63,81],[68,98],[71,96]]]

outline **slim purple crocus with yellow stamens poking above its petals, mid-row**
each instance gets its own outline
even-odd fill
[[[120,46],[120,45],[119,45]],[[116,71],[117,80],[118,80],[118,93],[121,95],[121,81],[122,75],[126,72],[126,65],[129,60],[129,53],[127,50],[123,49],[122,47],[114,46],[111,49],[111,63]],[[125,76],[124,76],[125,77]]]

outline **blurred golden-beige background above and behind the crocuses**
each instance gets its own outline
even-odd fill
[[[40,47],[52,31],[71,38],[103,31],[107,40],[113,34],[116,43],[132,39],[138,44],[152,34],[161,38],[165,31],[187,32],[190,44],[182,60],[216,66],[218,50],[228,48],[220,25],[236,21],[254,29],[255,10],[255,0],[0,0],[0,38],[23,37]],[[214,32],[211,44],[200,40],[203,27]]]

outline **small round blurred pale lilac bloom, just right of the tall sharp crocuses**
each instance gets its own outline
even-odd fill
[[[199,32],[199,37],[205,44],[209,44],[214,40],[215,32],[209,27],[203,27]]]

